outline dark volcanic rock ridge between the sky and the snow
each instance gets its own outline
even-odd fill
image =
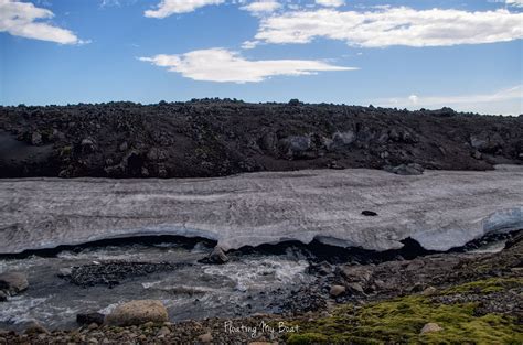
[[[199,177],[523,162],[523,118],[374,107],[188,103],[0,107],[0,177]]]

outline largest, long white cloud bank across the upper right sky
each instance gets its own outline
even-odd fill
[[[316,37],[352,46],[448,46],[506,42],[523,37],[523,13],[508,10],[415,10],[406,7],[374,11],[319,9],[265,18],[255,36],[266,43],[309,43]]]

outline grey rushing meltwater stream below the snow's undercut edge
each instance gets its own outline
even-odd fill
[[[25,292],[0,304],[0,328],[19,330],[32,320],[50,330],[72,328],[78,313],[107,313],[119,302],[139,299],[161,300],[171,321],[276,312],[267,294],[285,298],[313,279],[306,273],[308,262],[292,256],[246,255],[226,265],[199,263],[210,250],[203,242],[189,249],[172,242],[127,244],[0,259],[0,272],[22,271],[30,283]],[[109,260],[189,265],[129,278],[111,289],[82,288],[58,277],[63,269]]]

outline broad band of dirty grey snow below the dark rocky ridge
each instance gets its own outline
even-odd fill
[[[363,216],[362,211],[378,215]],[[0,252],[180,235],[225,249],[312,239],[372,250],[414,238],[447,250],[523,228],[523,166],[495,171],[263,172],[220,179],[0,180]]]

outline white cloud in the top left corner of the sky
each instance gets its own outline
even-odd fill
[[[73,32],[54,26],[49,20],[54,14],[47,9],[36,8],[30,2],[0,0],[0,32],[14,36],[56,42],[61,44],[87,43],[81,41]]]

